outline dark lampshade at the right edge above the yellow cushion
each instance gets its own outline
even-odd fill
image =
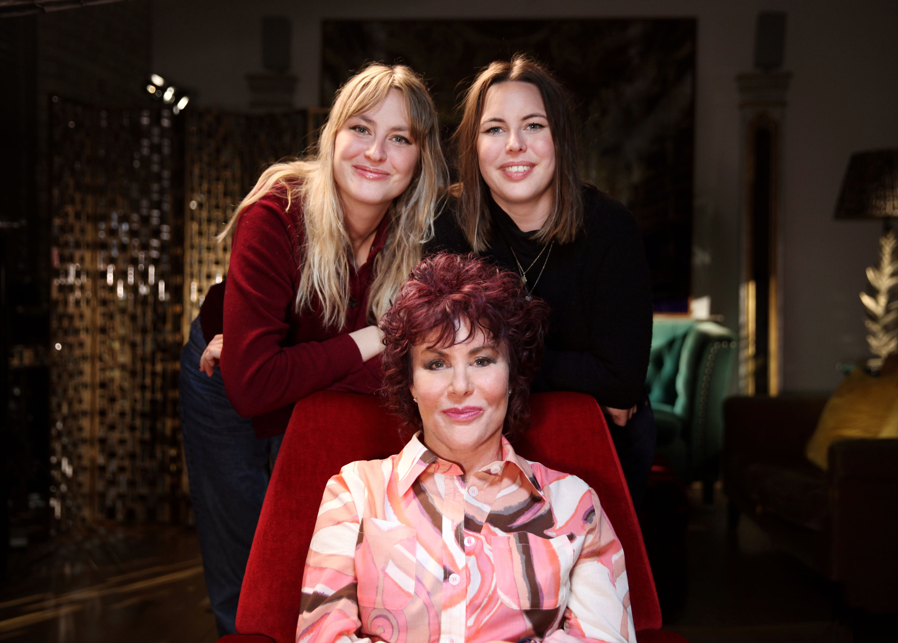
[[[898,216],[898,149],[852,154],[842,181],[837,219]]]

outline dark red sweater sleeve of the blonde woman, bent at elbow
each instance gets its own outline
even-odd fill
[[[293,235],[294,221],[268,198],[247,208],[234,232],[221,370],[228,400],[244,418],[293,404],[365,370],[348,333],[283,346],[295,303]]]

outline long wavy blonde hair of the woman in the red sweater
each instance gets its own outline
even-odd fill
[[[418,145],[418,168],[409,187],[393,199],[383,251],[374,260],[374,283],[368,295],[368,313],[379,320],[390,308],[400,286],[421,258],[422,246],[434,234],[438,202],[444,196],[448,172],[440,146],[434,101],[421,78],[408,66],[374,63],[340,87],[334,98],[318,145],[303,159],[275,163],[262,172],[256,186],[243,198],[225,230],[237,217],[271,191],[294,200],[303,208],[304,243],[296,310],[309,309],[317,298],[325,326],[341,330],[349,305],[351,244],[334,180],[334,142],[346,121],[380,105],[390,90],[399,90],[409,110],[411,137]]]

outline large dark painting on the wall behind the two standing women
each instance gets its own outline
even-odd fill
[[[574,93],[583,177],[642,229],[656,311],[689,307],[696,21],[324,21],[321,104],[376,60],[405,63],[434,94],[446,137],[476,70],[528,54]]]

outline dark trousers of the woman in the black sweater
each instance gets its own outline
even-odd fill
[[[646,495],[652,462],[655,461],[657,428],[652,403],[648,400],[648,395],[643,395],[636,413],[623,427],[618,427],[608,416],[605,416],[605,421],[608,422],[614,449],[621,461],[623,477],[627,479],[630,498],[633,498],[633,506],[638,511],[642,498]]]

